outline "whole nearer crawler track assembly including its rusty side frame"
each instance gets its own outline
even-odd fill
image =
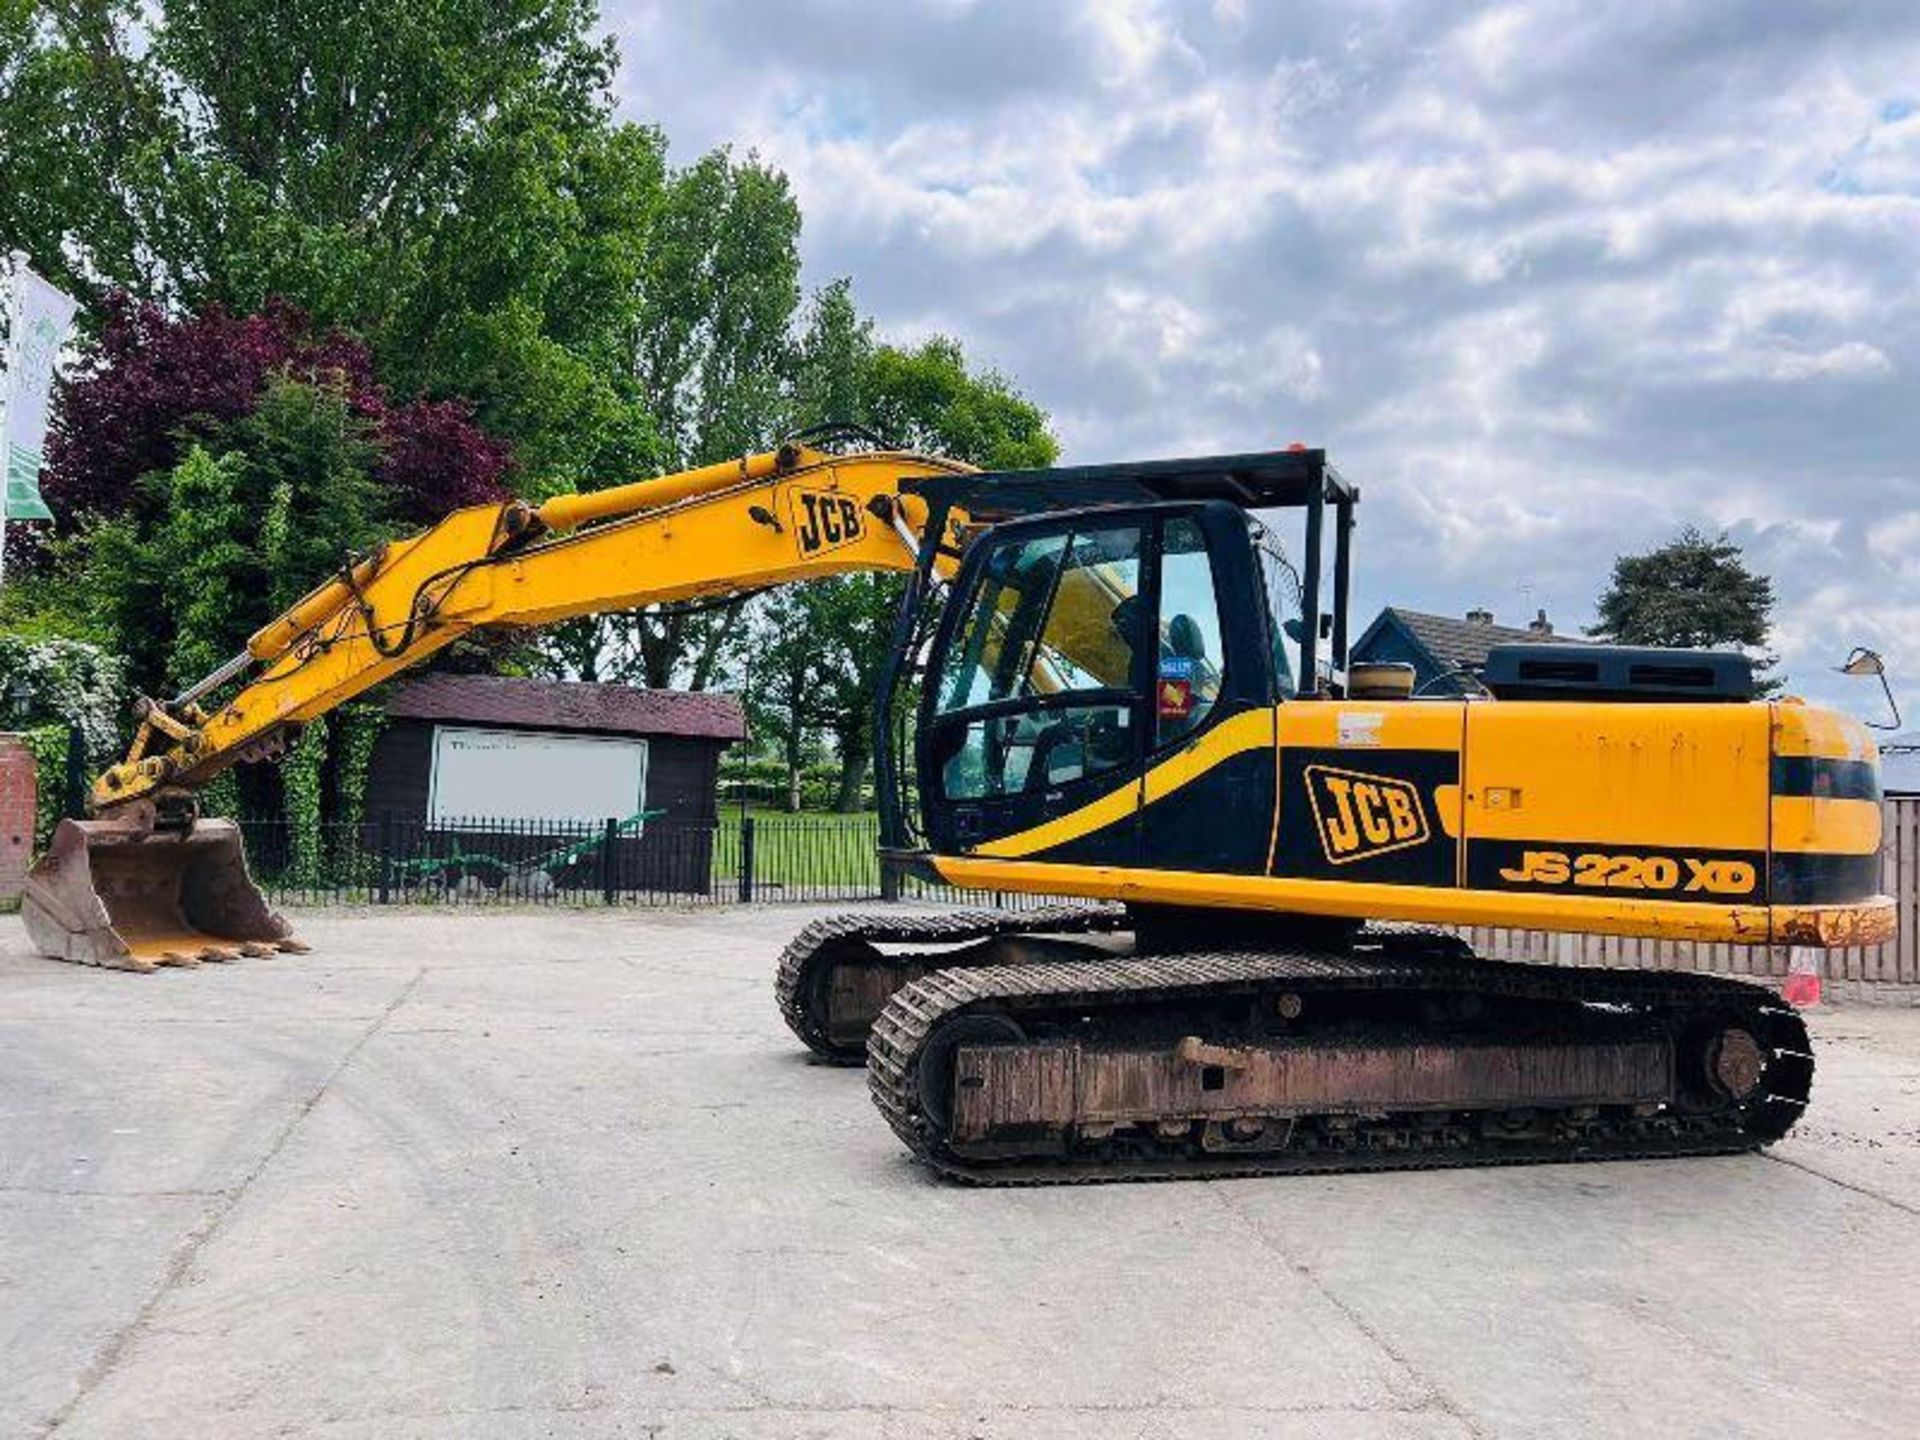
[[[1390,1048],[1417,1050],[1419,1037],[1348,1039],[1348,1044],[1373,1046],[1375,1054],[1329,1052],[1321,1056],[1332,1060],[1327,1073],[1313,1075],[1311,1066],[1306,1075],[1267,1073],[1258,1081],[1265,1089],[1252,1106],[1208,1108],[1213,1104],[1208,1085],[1225,1094],[1235,1085],[1235,1071],[1219,1066],[1223,1073],[1206,1077],[1206,1060],[1233,1054],[1242,1062],[1238,1073],[1252,1077],[1254,1056],[1267,1048],[1267,1043],[1206,1039],[1192,1020],[1210,1006],[1219,1014],[1219,1004],[1233,1000],[1238,1014],[1273,1014],[1279,996],[1292,993],[1304,996],[1308,1016],[1336,996],[1346,996],[1350,1016],[1356,1004],[1379,1004],[1384,1014],[1394,1000],[1442,991],[1523,1006],[1540,1018],[1548,1037],[1500,1039],[1496,1044],[1505,1054],[1465,1064],[1463,1050],[1471,1046],[1461,1043],[1446,1043],[1425,1058],[1394,1058]],[[943,1027],[975,1014],[1002,1016],[1016,1031],[1037,1025],[1041,1035],[1027,1043],[952,1050],[962,1064],[975,1066],[956,1075],[954,1114],[966,1135],[985,1137],[960,1140],[922,1110],[918,1066],[924,1054],[941,1052]],[[1156,1050],[1162,1071],[1142,1077],[1129,1073],[1131,1062],[1114,1066],[1114,1092],[1131,1100],[1131,1108],[1110,1098],[1106,1112],[1087,1106],[1087,1117],[1077,1121],[1085,1081],[1075,1073],[1081,1064],[1075,1046],[1100,1050],[1100,1029],[1110,1016],[1121,1018],[1117,1031],[1129,1037],[1110,1048]],[[1705,1039],[1722,1035],[1728,1021],[1738,1020],[1761,1050],[1761,1081],[1747,1098],[1705,1096],[1713,1102],[1699,1104],[1697,1087],[1688,1091],[1686,1104],[1644,1094],[1655,1089],[1655,1052],[1659,1066],[1674,1073],[1678,1060],[1668,1056],[1678,1037],[1699,1035],[1709,1020],[1715,1025]],[[1622,1033],[1622,1025],[1638,1033]],[[1156,1029],[1164,1039],[1152,1039]],[[1062,1041],[1062,1035],[1075,1039]],[[1187,1044],[1190,1060],[1179,1060],[1185,1041],[1196,1041]],[[1649,1043],[1653,1048],[1644,1048]],[[1688,1073],[1699,1073],[1701,1062],[1713,1064],[1699,1052],[1699,1041],[1688,1044],[1695,1046]],[[1559,1046],[1563,1054],[1528,1054],[1534,1046]],[[1567,1054],[1567,1046],[1574,1052]],[[1031,1060],[1023,1058],[1029,1054]],[[1169,1068],[1198,1077],[1198,1104],[1194,1092],[1185,1091],[1183,1104],[1156,1108],[1175,1085]],[[1434,1100],[1423,1108],[1375,1100],[1367,1114],[1357,1114],[1352,1096],[1342,1096],[1327,1100],[1327,1110],[1311,1110],[1313,1102],[1304,1100],[1290,1106],[1296,1114],[1288,1117],[1279,1112],[1288,1110],[1284,1098],[1296,1083],[1315,1087],[1321,1096],[1332,1096],[1342,1083],[1373,1085],[1377,1094],[1388,1096],[1396,1087],[1404,1087],[1400,1094],[1430,1087],[1452,1102]],[[1665,1094],[1672,1094],[1674,1085],[1678,1077],[1667,1083]],[[1457,950],[1446,952],[1419,935],[1363,937],[1354,950],[1342,952],[1187,954],[935,972],[889,1000],[868,1043],[868,1087],[895,1133],[941,1173],[975,1185],[1724,1154],[1784,1135],[1805,1110],[1811,1085],[1805,1025],[1764,987],[1699,973],[1461,960]],[[1476,1106],[1461,1096],[1488,1102]],[[1250,1108],[1261,1114],[1248,1114]],[[1298,1114],[1304,1110],[1311,1114]],[[1114,1117],[1116,1112],[1133,1119]]]

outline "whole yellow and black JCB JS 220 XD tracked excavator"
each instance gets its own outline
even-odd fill
[[[227,766],[478,628],[899,570],[885,872],[1056,902],[824,920],[776,991],[939,1171],[1711,1154],[1799,1117],[1807,1031],[1766,987],[1457,931],[1884,941],[1862,726],[1709,651],[1498,647],[1475,699],[1350,662],[1359,493],[1317,449],[981,472],[829,444],[463,509],[344,566],[142,703],[29,879],[33,939],[129,970],[300,948],[198,816]]]

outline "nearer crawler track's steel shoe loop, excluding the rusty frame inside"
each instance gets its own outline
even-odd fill
[[[1227,952],[1089,960],[1073,966],[993,966],[935,972],[899,991],[868,1039],[868,1089],[908,1148],[943,1175],[968,1185],[1075,1185],[1100,1181],[1223,1179],[1235,1175],[1336,1173],[1359,1169],[1438,1169],[1565,1160],[1634,1160],[1684,1154],[1736,1154],[1780,1139],[1799,1119],[1812,1087],[1812,1052],[1799,1014],[1764,985],[1724,975],[1528,966],[1459,960],[1417,935],[1384,937],[1377,954]],[[1425,948],[1417,958],[1392,950]],[[1438,952],[1436,952],[1438,950]],[[1021,1010],[1081,1008],[1112,1002],[1181,1004],[1219,993],[1250,993],[1275,983],[1319,983],[1356,989],[1476,989],[1486,995],[1540,1000],[1615,1000],[1651,1006],[1738,1006],[1766,1052],[1764,1083],[1774,1089],[1741,1108],[1743,1123],[1682,1135],[1620,1135],[1588,1144],[1492,1140],[1453,1150],[1338,1150],[1313,1154],[1246,1154],[1102,1160],[968,1162],[943,1154],[939,1137],[918,1114],[916,1060],[933,1027],[972,1006],[1018,1020]]]

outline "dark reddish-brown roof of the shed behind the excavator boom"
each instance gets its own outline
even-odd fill
[[[403,720],[451,720],[472,726],[722,741],[747,737],[747,716],[733,695],[589,685],[578,680],[420,676],[403,680],[388,691],[386,712]]]

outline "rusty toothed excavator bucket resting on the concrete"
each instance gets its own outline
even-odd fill
[[[232,820],[61,820],[21,918],[40,954],[111,970],[307,950],[248,874]]]

